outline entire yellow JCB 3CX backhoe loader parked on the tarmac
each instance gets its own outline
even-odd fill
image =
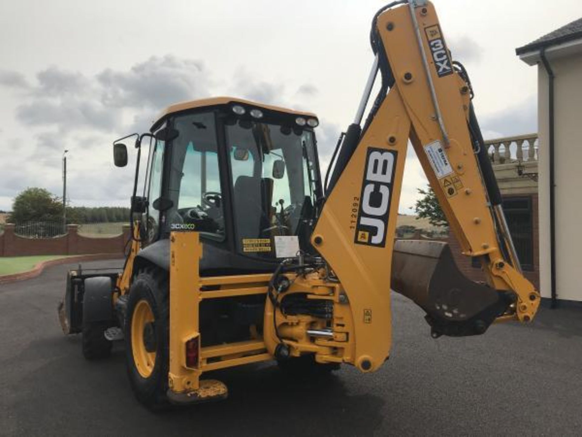
[[[137,148],[125,266],[72,270],[60,313],[65,333],[82,333],[87,358],[125,340],[146,406],[220,399],[226,386],[205,373],[259,361],[375,371],[391,348],[391,289],[424,309],[435,338],[533,319],[540,295],[521,274],[473,89],[432,4],[385,6],[370,41],[370,76],[325,184],[308,112],[210,98],[172,105],[149,133],[125,137]],[[395,242],[409,140],[487,283],[460,274],[446,244]]]

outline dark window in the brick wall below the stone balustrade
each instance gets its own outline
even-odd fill
[[[534,237],[531,197],[503,199],[503,212],[509,233],[523,270],[534,270]],[[478,258],[472,259],[473,267],[481,267]]]

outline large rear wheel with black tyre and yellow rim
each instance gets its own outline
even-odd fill
[[[150,410],[169,406],[168,275],[141,270],[129,291],[125,318],[127,374],[137,400]]]

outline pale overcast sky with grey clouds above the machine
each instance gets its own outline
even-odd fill
[[[582,16],[579,0],[435,0],[469,71],[485,138],[535,132],[534,67],[514,49]],[[169,103],[230,95],[316,112],[322,161],[350,123],[372,62],[378,0],[0,0],[0,210],[27,186],[73,206],[127,205],[111,143]],[[133,150],[131,150],[133,153]],[[400,202],[425,184],[414,157]]]

